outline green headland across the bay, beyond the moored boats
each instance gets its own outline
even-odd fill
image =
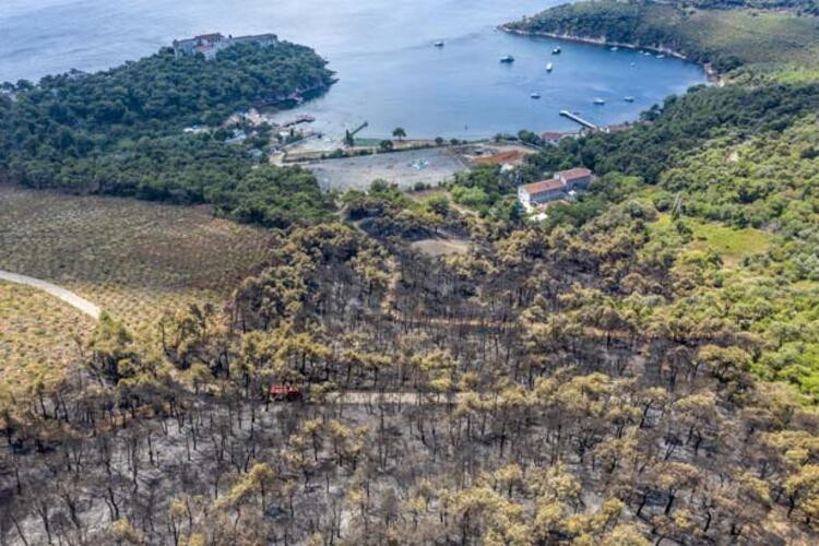
[[[575,2],[505,27],[669,49],[722,73],[748,64],[768,71],[818,68],[819,19],[786,12],[688,5],[648,0]],[[703,4],[703,8],[721,7]]]

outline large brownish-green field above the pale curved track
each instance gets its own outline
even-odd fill
[[[223,301],[272,238],[206,207],[0,186],[0,269],[66,286],[136,334],[166,309]]]

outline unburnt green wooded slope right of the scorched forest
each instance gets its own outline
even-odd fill
[[[555,8],[538,17],[554,22],[572,11],[585,14],[580,19],[585,25],[597,15],[609,17],[610,10],[654,8],[643,3],[590,2]],[[657,8],[678,9],[666,4]],[[557,19],[551,19],[550,12],[557,12]],[[643,12],[636,16],[641,22],[651,19]],[[797,19],[810,24],[817,21]],[[774,43],[782,36],[760,34],[760,39],[768,39],[768,48],[775,50]],[[819,38],[807,47],[816,44]],[[780,343],[775,332],[792,328],[785,324],[811,320],[796,310],[819,304],[810,289],[815,257],[819,256],[819,133],[815,114],[819,83],[784,83],[767,78],[769,73],[767,64],[748,56],[741,71],[734,72],[740,75],[728,85],[699,86],[680,97],[669,97],[662,106],[644,112],[642,122],[628,131],[595,133],[563,141],[557,147],[547,146],[527,158],[526,178],[538,179],[578,164],[601,176],[591,191],[575,202],[549,209],[547,225],[551,228],[594,222],[618,203],[651,203],[661,218],[673,219],[673,227],[660,229],[655,236],[664,233],[663,237],[670,237],[667,245],[716,257],[719,269],[725,270],[719,287],[707,290],[708,305],[716,298],[726,301],[725,309],[740,305],[747,310],[759,302],[761,294],[772,290],[764,296],[767,311],[759,318],[733,311],[720,317],[769,340],[768,349],[753,365],[757,373],[790,381],[816,399],[816,332],[800,330],[792,340],[798,349]],[[770,245],[773,238],[780,242]]]

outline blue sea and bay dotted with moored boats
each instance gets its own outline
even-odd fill
[[[330,60],[339,83],[298,112],[331,134],[368,121],[411,138],[483,138],[526,128],[572,130],[561,109],[598,123],[636,119],[703,83],[698,67],[630,50],[510,36],[495,27],[557,0],[0,0],[0,81],[98,70],[175,37],[274,32]],[[437,39],[446,47],[435,48]],[[511,66],[498,59],[515,57]],[[554,62],[549,74],[546,64]],[[533,92],[539,100],[530,98]],[[626,103],[633,96],[634,103]],[[596,98],[605,106],[594,106]],[[289,112],[287,117],[292,117]]]

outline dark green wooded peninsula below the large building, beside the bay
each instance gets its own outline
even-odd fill
[[[311,49],[277,43],[237,45],[213,61],[164,49],[105,72],[7,84],[0,94],[0,176],[76,193],[207,202],[266,226],[317,218],[329,203],[308,173],[268,167],[268,175],[248,178],[257,163],[249,145],[182,130],[219,127],[237,109],[331,83],[332,73]]]

